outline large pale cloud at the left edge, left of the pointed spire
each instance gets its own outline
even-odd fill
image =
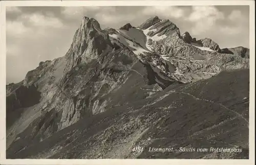
[[[6,9],[9,12],[7,12],[7,18],[8,14],[19,12],[15,19],[13,17],[6,21],[7,56],[31,55],[32,50],[37,47],[37,45],[33,44],[51,39],[52,36],[57,34],[54,29],[58,31],[67,29],[67,26],[54,16],[44,15],[39,12],[23,13],[18,7],[8,7]]]

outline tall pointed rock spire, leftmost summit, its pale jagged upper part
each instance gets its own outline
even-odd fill
[[[97,59],[109,44],[111,44],[109,36],[101,30],[99,22],[94,18],[84,16],[66,55],[68,58],[66,71],[79,62]]]

